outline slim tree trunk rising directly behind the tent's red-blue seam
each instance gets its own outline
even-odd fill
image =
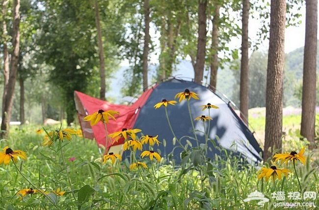
[[[147,66],[148,66],[148,53],[150,47],[150,0],[144,0],[144,15],[145,15],[145,29],[144,29],[144,48],[143,48],[143,90],[148,88],[147,80]]]

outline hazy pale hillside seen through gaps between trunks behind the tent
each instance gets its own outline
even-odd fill
[[[318,52],[319,52],[319,41],[318,41]],[[319,53],[317,53],[317,72],[319,72]],[[261,63],[261,62],[260,62]],[[117,103],[122,102],[122,95],[121,95],[121,88],[123,84],[126,82],[123,78],[123,75],[126,73],[126,69],[128,66],[122,66],[114,75],[110,83],[110,90],[107,91],[106,98],[108,100],[112,100]],[[156,69],[158,65],[150,65],[149,66],[149,81],[150,83],[154,82],[154,78],[156,76]],[[302,70],[303,69],[303,47],[298,48],[291,53],[286,54],[285,58],[285,75],[288,77],[294,77],[295,81],[298,81],[302,78]],[[237,70],[238,71],[238,70]],[[223,94],[225,94],[231,100],[237,102],[238,98],[231,98],[234,95],[238,95],[239,89],[234,88],[239,80],[236,78],[238,77],[239,72],[234,72],[234,70],[225,67],[224,69],[219,69],[217,73],[217,90]],[[179,63],[176,65],[176,70],[173,72],[173,76],[184,78],[184,79],[191,79],[194,78],[194,70],[189,60],[180,60]],[[207,79],[204,79],[204,83],[209,83],[209,72],[206,70],[204,72],[204,76]],[[152,79],[153,78],[153,79]],[[293,85],[293,84],[292,84]],[[293,86],[290,89],[286,89],[289,92],[285,93],[285,97],[288,101],[287,105],[291,105],[291,103],[295,103],[296,99],[293,98]],[[296,104],[294,104],[296,105]]]

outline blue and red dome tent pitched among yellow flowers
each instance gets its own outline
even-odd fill
[[[219,109],[210,109],[210,117],[213,120],[210,120],[209,128],[208,121],[204,125],[200,120],[193,120],[198,144],[205,143],[204,127],[206,130],[209,129],[208,136],[212,141],[208,142],[207,149],[208,156],[211,159],[215,154],[220,154],[218,148],[223,148],[235,154],[240,154],[240,156],[245,157],[250,163],[262,160],[262,149],[252,132],[235,113],[229,102],[225,102],[205,86],[175,78],[162,82],[145,91],[131,106],[111,104],[76,91],[75,100],[76,104],[78,104],[77,110],[84,137],[89,138],[90,135],[89,133],[88,135],[85,134],[85,129],[89,126],[87,126],[88,122],[81,120],[83,117],[100,109],[116,110],[120,112],[120,115],[116,121],[110,120],[109,124],[107,124],[109,133],[120,131],[122,128],[138,128],[142,130],[143,135],[158,135],[159,141],[163,143],[160,146],[155,145],[154,150],[159,150],[162,157],[168,158],[169,155],[172,155],[174,159],[180,161],[180,154],[183,150],[176,147],[178,144],[176,141],[173,141],[173,134],[167,122],[165,109],[164,107],[155,109],[154,105],[161,102],[162,99],[174,100],[176,93],[184,92],[186,89],[197,93],[199,96],[199,100],[191,98],[188,101],[192,120],[202,115],[208,116],[208,110],[202,111],[202,105],[211,103],[219,107]],[[83,107],[82,110],[81,106]],[[187,101],[183,100],[175,106],[167,106],[167,113],[173,131],[176,137],[181,140],[181,143],[183,145],[191,144],[192,146],[196,146],[197,141],[193,134]],[[108,150],[111,144],[105,143],[106,138],[103,123],[99,122],[98,125],[93,126],[92,131],[97,143],[106,145]],[[119,140],[118,144],[123,144],[123,142]]]

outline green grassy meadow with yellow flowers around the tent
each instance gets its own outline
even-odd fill
[[[264,130],[265,117],[251,116],[250,124],[259,135]],[[300,116],[284,117],[284,127],[287,126],[284,151],[296,151],[301,158],[287,163],[276,161],[275,169],[274,165],[269,168],[271,163],[265,163],[264,167],[243,164],[230,153],[226,153],[227,158],[215,156],[210,162],[198,152],[202,148],[187,150],[187,161],[181,165],[163,164],[163,158],[158,161],[155,154],[150,160],[148,154],[133,158],[136,163],[133,167],[128,160],[120,161],[114,155],[106,160],[94,141],[65,130],[64,124],[45,130],[41,125],[11,126],[9,138],[1,139],[0,147],[9,146],[13,152],[25,151],[27,159],[19,157],[16,163],[11,160],[8,165],[0,164],[0,207],[4,210],[268,210],[284,209],[285,203],[290,209],[316,209],[319,161],[315,152],[307,149],[307,142],[299,141],[295,133],[299,123]],[[79,126],[70,129],[77,131]],[[59,131],[64,132],[60,137]],[[63,139],[68,137],[66,134],[72,139]],[[53,136],[48,139],[50,135]],[[300,154],[303,147],[305,153]],[[0,153],[0,161],[5,155],[8,150]],[[266,181],[263,172],[269,171],[273,173]],[[265,197],[259,197],[268,201],[259,203],[261,200],[249,199],[253,192],[263,193]],[[280,200],[278,192],[285,194],[284,200]]]

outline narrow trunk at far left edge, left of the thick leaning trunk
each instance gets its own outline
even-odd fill
[[[6,16],[6,12],[7,12],[7,4],[8,4],[9,0],[2,0],[2,9],[1,9],[1,13],[2,13],[2,18],[3,20],[1,21],[2,23],[2,34],[4,37],[3,41],[3,95],[2,95],[2,112],[4,112],[4,101],[5,101],[5,96],[7,94],[7,89],[8,89],[8,82],[9,82],[9,51],[8,51],[8,47],[6,44],[6,36],[8,35],[8,31],[7,31],[7,23],[5,22],[5,16]]]

